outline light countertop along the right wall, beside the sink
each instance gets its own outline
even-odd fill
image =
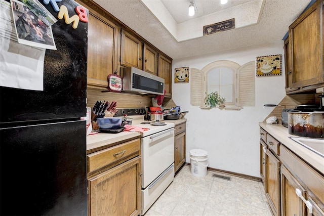
[[[324,158],[290,139],[290,137],[298,136],[289,134],[287,127],[281,124],[267,124],[264,122],[259,122],[259,125],[282,145],[289,148],[297,156],[324,175]]]

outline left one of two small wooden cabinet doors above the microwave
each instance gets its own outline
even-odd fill
[[[143,43],[132,34],[121,30],[120,64],[143,69]]]

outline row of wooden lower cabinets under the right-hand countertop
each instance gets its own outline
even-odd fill
[[[260,175],[273,215],[324,216],[324,176],[274,134],[260,128],[260,137]]]

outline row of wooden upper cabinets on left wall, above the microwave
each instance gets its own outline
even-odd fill
[[[89,10],[88,88],[107,90],[109,74],[136,67],[165,79],[171,97],[172,59],[93,0],[76,0]]]

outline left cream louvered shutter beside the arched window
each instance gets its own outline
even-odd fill
[[[196,68],[190,69],[190,104],[204,105],[204,72]]]

